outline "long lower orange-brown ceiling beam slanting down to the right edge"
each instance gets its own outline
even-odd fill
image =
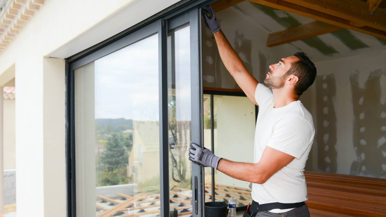
[[[381,39],[386,39],[386,31],[374,29],[368,26],[363,26],[363,27],[353,26],[353,25],[350,25],[350,20],[346,20],[341,17],[335,17],[327,13],[323,13],[317,10],[312,10],[310,8],[289,3],[284,0],[249,0],[249,1],[261,4],[261,5],[266,5],[268,7],[276,8],[279,10],[284,10],[286,12],[295,13],[303,17],[308,17],[314,20],[325,22],[327,24],[335,25],[337,27],[342,27],[343,29],[350,29],[357,32],[362,32],[367,35],[372,35],[374,37],[378,37]]]

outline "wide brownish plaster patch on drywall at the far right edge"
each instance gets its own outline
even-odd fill
[[[354,150],[357,160],[353,161],[350,175],[386,178],[382,163],[386,151],[385,76],[381,69],[371,71],[364,85],[359,73],[350,75],[352,107],[354,110]]]

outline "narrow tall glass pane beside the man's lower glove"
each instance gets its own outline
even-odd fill
[[[170,216],[192,215],[190,27],[168,33],[168,126]]]

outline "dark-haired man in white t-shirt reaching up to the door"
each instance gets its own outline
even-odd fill
[[[247,97],[259,106],[254,163],[220,158],[191,144],[189,160],[213,167],[230,177],[252,183],[252,205],[247,216],[310,216],[303,175],[315,129],[300,95],[314,82],[316,68],[303,52],[269,66],[264,84],[245,69],[225,38],[210,6],[203,7],[205,24],[214,34],[220,57]],[[235,144],[237,148],[237,144]]]

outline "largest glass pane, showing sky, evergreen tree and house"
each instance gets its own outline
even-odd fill
[[[77,215],[159,215],[158,35],[74,76]]]

